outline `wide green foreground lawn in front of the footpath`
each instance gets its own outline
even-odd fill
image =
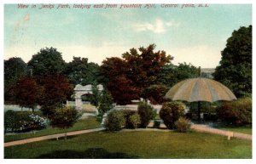
[[[4,148],[4,158],[252,158],[252,141],[209,133],[97,132]]]

